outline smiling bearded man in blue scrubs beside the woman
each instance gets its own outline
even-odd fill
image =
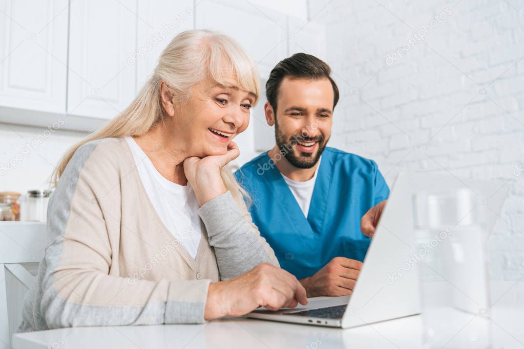
[[[330,73],[305,53],[275,66],[264,108],[276,145],[235,173],[260,234],[308,297],[352,293],[370,242],[361,217],[369,210],[363,224],[373,225],[370,208],[389,195],[373,160],[326,147],[339,100]]]

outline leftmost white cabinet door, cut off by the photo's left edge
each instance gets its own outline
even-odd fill
[[[63,114],[68,0],[3,0],[0,10],[0,106]]]

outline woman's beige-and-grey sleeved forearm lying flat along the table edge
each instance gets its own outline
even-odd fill
[[[54,284],[44,283],[49,286],[40,305],[34,305],[50,329],[204,322],[209,280],[154,282],[92,271],[59,274]]]

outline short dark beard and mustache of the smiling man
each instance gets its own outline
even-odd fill
[[[280,154],[282,154],[291,165],[297,168],[312,168],[316,165],[316,162],[319,161],[324,148],[326,147],[327,141],[324,142],[324,136],[321,134],[318,137],[304,137],[301,134],[292,135],[289,137],[289,140],[280,131],[278,124],[275,122],[275,140],[277,146],[280,149]],[[319,148],[316,150],[316,154],[313,156],[313,153],[301,152],[299,156],[296,156],[294,153],[293,145],[298,144],[297,140],[303,143],[307,142],[318,142]],[[300,151],[300,149],[299,149]]]

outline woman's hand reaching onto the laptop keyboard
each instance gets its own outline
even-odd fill
[[[231,280],[209,285],[204,318],[241,316],[258,307],[270,310],[308,304],[305,289],[292,274],[262,263]]]

